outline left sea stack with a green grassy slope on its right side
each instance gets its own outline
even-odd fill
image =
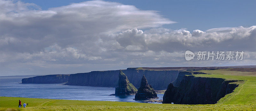
[[[129,82],[127,76],[120,70],[119,71],[119,79],[118,79],[118,87],[116,88],[115,95],[130,95],[136,94],[137,89]]]

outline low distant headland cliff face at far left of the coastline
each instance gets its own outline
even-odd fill
[[[22,83],[65,83],[69,75],[43,75],[22,79]]]

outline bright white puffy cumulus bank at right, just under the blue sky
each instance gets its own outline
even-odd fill
[[[216,30],[216,28],[214,30]],[[115,36],[117,41],[122,43],[121,46],[123,47],[127,47],[128,45],[143,45],[144,50],[180,51],[184,49],[237,49],[252,52],[255,51],[255,32],[256,26],[249,28],[241,26],[225,32],[194,30],[192,34],[185,29],[171,30],[159,28],[158,31],[157,29],[150,29],[143,32],[142,30],[134,28],[132,30],[123,31]],[[135,46],[133,48],[136,49]]]

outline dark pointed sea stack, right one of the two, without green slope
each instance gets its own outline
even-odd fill
[[[138,92],[135,94],[134,100],[156,99],[156,98],[158,98],[156,92],[154,91],[152,86],[148,84],[148,81],[145,75],[143,75],[140,81],[140,88],[138,89]]]

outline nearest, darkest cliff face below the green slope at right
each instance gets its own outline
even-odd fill
[[[184,75],[178,87],[173,86],[172,83],[168,85],[164,93],[163,103],[215,104],[238,86],[233,82],[236,81]]]

